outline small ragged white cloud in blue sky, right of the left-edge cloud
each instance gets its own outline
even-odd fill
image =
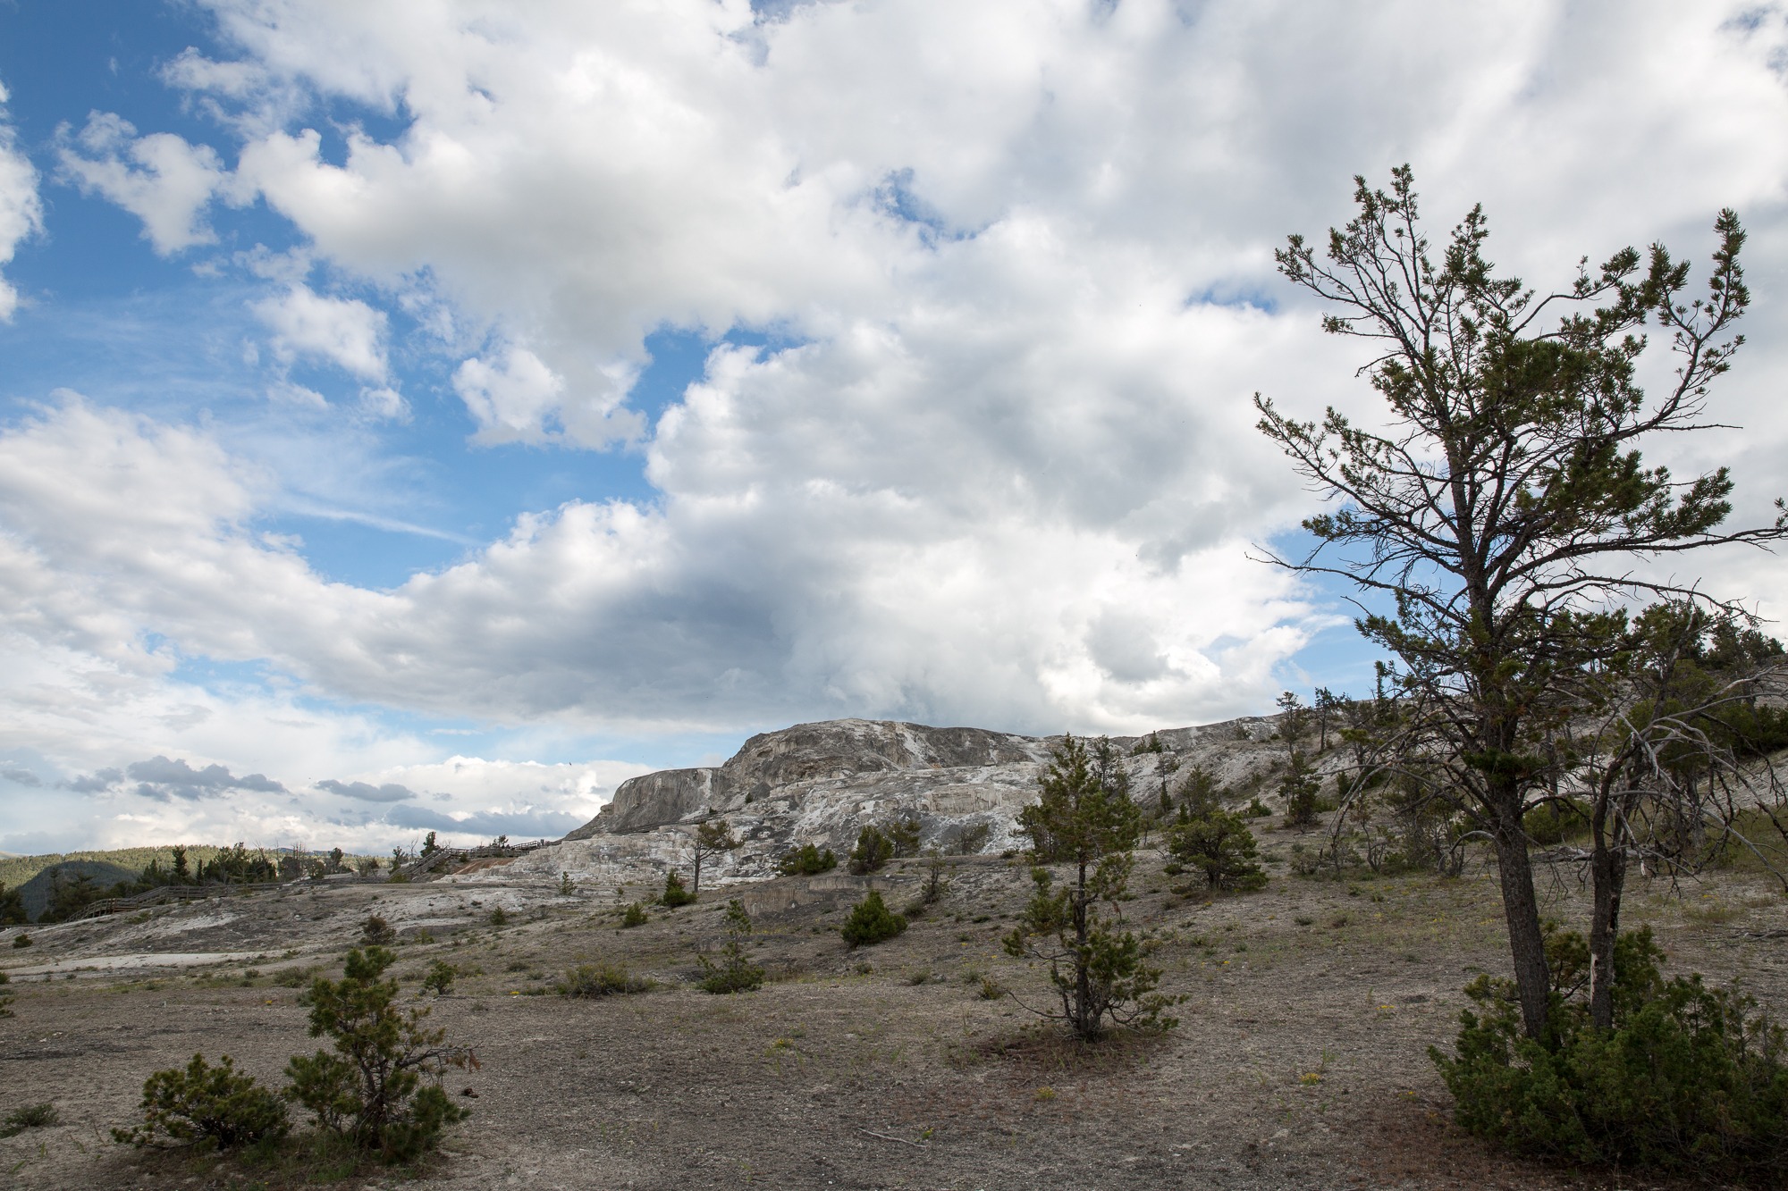
[[[57,148],[63,177],[143,220],[143,236],[161,256],[215,243],[206,207],[225,182],[218,154],[172,132],[138,136],[114,113],[88,114],[86,127]]]

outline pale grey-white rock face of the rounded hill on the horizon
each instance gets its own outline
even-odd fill
[[[1232,794],[1255,792],[1284,756],[1271,719],[1239,719],[1155,733],[1166,753],[1130,756],[1135,737],[1114,737],[1139,801],[1159,798],[1169,769],[1203,765]],[[1017,812],[1035,801],[1037,776],[1058,737],[982,728],[928,728],[835,719],[746,740],[724,765],[667,769],[620,783],[615,798],[563,842],[520,857],[508,874],[538,873],[606,885],[685,874],[696,823],[724,817],[744,840],[703,867],[703,882],[762,880],[781,853],[831,848],[842,864],[864,824],[917,817],[921,846],[946,851],[1021,848]],[[978,842],[976,842],[978,840]]]

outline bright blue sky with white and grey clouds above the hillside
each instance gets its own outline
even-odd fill
[[[1724,427],[1649,458],[1788,490],[1781,4],[0,0],[0,88],[5,851],[1364,692],[1250,399],[1382,417],[1273,249],[1402,163],[1541,288],[1736,207]]]

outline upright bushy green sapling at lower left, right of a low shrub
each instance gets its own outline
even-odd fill
[[[438,1077],[467,1066],[470,1055],[443,1046],[442,1030],[422,1026],[427,1009],[397,1009],[397,982],[381,978],[395,959],[384,948],[354,950],[342,980],[311,984],[311,1037],[327,1034],[334,1052],[293,1055],[286,1094],[309,1109],[320,1128],[386,1162],[406,1162],[467,1116]],[[436,1082],[422,1085],[424,1075]]]

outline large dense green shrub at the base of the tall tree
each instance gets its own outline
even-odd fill
[[[1547,1037],[1527,1039],[1513,985],[1479,976],[1459,1053],[1429,1055],[1466,1130],[1518,1153],[1586,1166],[1645,1166],[1783,1186],[1788,1177],[1788,1039],[1756,1001],[1699,975],[1665,982],[1650,928],[1615,944],[1615,1025],[1590,1025],[1588,948],[1554,932]]]

